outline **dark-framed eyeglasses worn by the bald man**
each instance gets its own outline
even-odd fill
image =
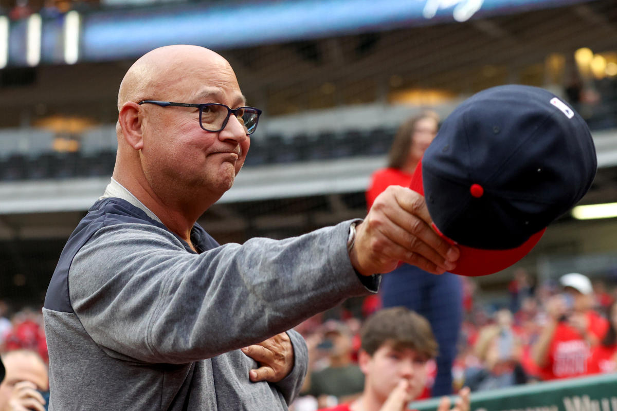
[[[253,134],[257,129],[257,121],[262,110],[255,107],[238,107],[229,108],[225,104],[207,103],[207,104],[187,104],[174,103],[170,101],[143,100],[138,104],[156,104],[160,107],[196,107],[199,108],[199,125],[205,131],[217,132],[221,131],[230,120],[233,114],[236,116],[240,124],[244,126],[246,134]]]

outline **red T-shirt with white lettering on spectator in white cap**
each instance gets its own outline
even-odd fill
[[[608,321],[593,311],[587,314],[587,330],[598,340],[608,330]],[[543,380],[556,380],[589,374],[587,364],[591,349],[584,337],[566,322],[560,322],[549,346],[549,359],[545,367],[539,369]]]

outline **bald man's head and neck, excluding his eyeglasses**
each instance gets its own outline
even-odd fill
[[[233,184],[249,149],[247,129],[228,116],[224,129],[207,131],[199,108],[140,105],[143,100],[230,108],[243,107],[246,100],[230,63],[198,46],[155,49],[137,60],[120,84],[113,177],[157,216],[173,209],[190,229]],[[176,233],[184,238],[186,227]]]

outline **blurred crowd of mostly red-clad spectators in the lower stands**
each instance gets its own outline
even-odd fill
[[[518,269],[500,303],[489,304],[473,278],[462,282],[453,393],[463,386],[483,391],[617,371],[617,287],[581,274],[537,284]],[[381,309],[379,295],[349,299],[296,327],[309,347],[310,368],[293,410],[333,407],[362,394],[360,330]],[[48,360],[41,310],[15,311],[0,300],[0,354],[24,350]],[[428,378],[418,398],[431,396],[436,372],[436,362],[426,362]]]

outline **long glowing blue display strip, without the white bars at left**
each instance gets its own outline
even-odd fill
[[[165,44],[212,49],[463,22],[588,0],[300,0],[101,11],[86,16],[85,60],[136,57]],[[127,41],[130,39],[130,41]]]

